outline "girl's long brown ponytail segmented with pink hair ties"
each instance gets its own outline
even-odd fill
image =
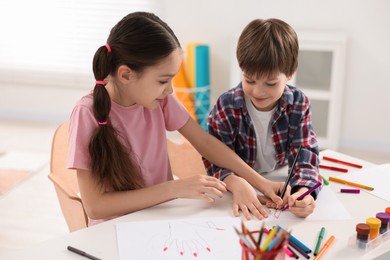
[[[111,46],[100,47],[93,59],[96,79],[93,90],[93,114],[98,122],[91,141],[89,153],[91,170],[98,183],[114,191],[138,189],[144,186],[139,166],[133,156],[131,145],[119,141],[119,133],[109,121],[111,99],[105,88],[105,79],[115,70],[114,50]]]

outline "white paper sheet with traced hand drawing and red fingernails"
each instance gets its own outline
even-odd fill
[[[119,259],[241,258],[241,218],[218,217],[172,221],[126,222],[116,225]]]

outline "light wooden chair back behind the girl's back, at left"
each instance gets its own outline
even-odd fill
[[[53,182],[62,214],[70,232],[87,227],[88,217],[79,194],[76,170],[66,168],[69,122],[62,123],[54,133],[49,179]]]

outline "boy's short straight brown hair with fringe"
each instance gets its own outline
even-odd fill
[[[286,22],[255,19],[242,31],[237,44],[237,61],[250,77],[292,76],[298,67],[298,37]]]

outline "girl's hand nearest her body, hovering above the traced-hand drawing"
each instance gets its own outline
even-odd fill
[[[226,184],[207,175],[194,175],[173,181],[172,192],[175,198],[200,199],[214,202],[213,195],[222,198],[227,191]]]

